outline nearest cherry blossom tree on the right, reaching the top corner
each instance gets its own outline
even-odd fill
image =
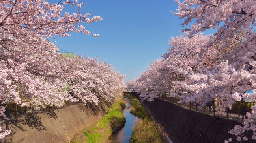
[[[202,83],[192,83],[187,87],[193,91],[192,97],[202,96],[218,97],[226,102],[226,105],[234,103],[241,98],[255,100],[255,92],[246,94],[245,91],[256,88],[255,85],[255,4],[253,0],[185,0],[178,3],[177,13],[180,18],[185,18],[183,25],[190,25],[183,29],[188,31],[189,36],[216,29],[214,36],[208,45],[222,43],[220,51],[225,51],[222,56],[223,62],[208,70],[207,80]],[[235,43],[235,44],[234,44]],[[198,85],[204,84],[202,87]],[[209,91],[206,93],[206,91]],[[253,90],[254,91],[254,90]],[[256,139],[255,107],[252,112],[247,113],[248,119],[244,120],[244,126],[236,126],[230,133],[237,135],[237,140],[245,130],[253,131],[253,139]],[[248,140],[243,138],[243,140]]]

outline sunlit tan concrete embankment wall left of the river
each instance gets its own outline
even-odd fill
[[[11,135],[0,143],[67,143],[84,127],[102,118],[110,103],[100,105],[77,104],[45,114],[26,116],[0,122],[2,129]]]

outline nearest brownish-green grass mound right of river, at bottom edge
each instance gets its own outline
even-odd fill
[[[168,143],[161,132],[163,127],[148,118],[139,119],[133,128],[131,143]]]

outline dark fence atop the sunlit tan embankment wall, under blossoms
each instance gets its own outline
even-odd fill
[[[6,115],[7,119],[12,118],[19,118],[22,116],[31,116],[34,114],[40,114],[45,112],[52,112],[54,110],[58,110],[61,108],[69,107],[71,105],[75,105],[81,102],[67,102],[62,107],[55,107],[55,106],[32,106],[28,103],[28,105],[21,106],[16,103],[9,103],[4,106],[6,106],[6,112],[4,114]],[[0,116],[0,121],[6,120],[3,116]]]

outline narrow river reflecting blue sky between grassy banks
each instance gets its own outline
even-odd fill
[[[129,139],[131,138],[131,135],[133,132],[133,126],[138,120],[138,117],[130,113],[130,106],[131,106],[130,100],[125,98],[124,101],[125,101],[126,107],[123,110],[123,115],[126,118],[126,123],[123,129],[113,134],[112,140],[110,141],[110,143],[129,143]]]

